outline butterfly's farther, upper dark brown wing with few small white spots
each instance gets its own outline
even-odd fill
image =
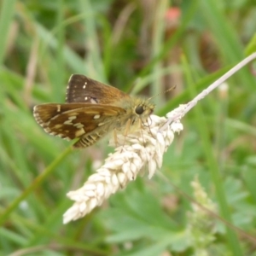
[[[111,104],[120,98],[130,98],[113,86],[102,84],[81,74],[73,74],[67,85],[66,102]]]

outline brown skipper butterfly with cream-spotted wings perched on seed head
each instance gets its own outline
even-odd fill
[[[34,118],[50,135],[79,138],[75,148],[86,148],[110,131],[134,131],[153,113],[149,100],[131,97],[113,86],[81,74],[68,81],[66,103],[34,107]]]

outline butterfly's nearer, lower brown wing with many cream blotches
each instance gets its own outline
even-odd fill
[[[35,106],[34,117],[44,131],[67,140],[80,138],[74,147],[96,143],[113,124],[113,119],[125,114],[125,109],[101,104],[68,103]],[[86,118],[85,118],[86,117]]]

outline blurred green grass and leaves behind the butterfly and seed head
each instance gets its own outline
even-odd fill
[[[72,73],[144,96],[176,85],[154,97],[164,115],[256,50],[255,17],[253,0],[0,1],[0,255],[256,255],[255,64],[183,118],[151,180],[67,225],[67,192],[113,148],[71,150],[32,117]]]

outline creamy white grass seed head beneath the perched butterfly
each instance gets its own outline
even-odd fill
[[[148,170],[149,178],[153,177],[162,165],[163,154],[172,143],[174,132],[183,130],[179,121],[161,129],[165,123],[166,118],[151,115],[149,127],[128,135],[116,134],[109,142],[115,147],[114,152],[108,154],[103,166],[88,178],[82,188],[67,193],[74,204],[65,212],[64,224],[101,206],[110,195],[124,189],[145,170]]]

